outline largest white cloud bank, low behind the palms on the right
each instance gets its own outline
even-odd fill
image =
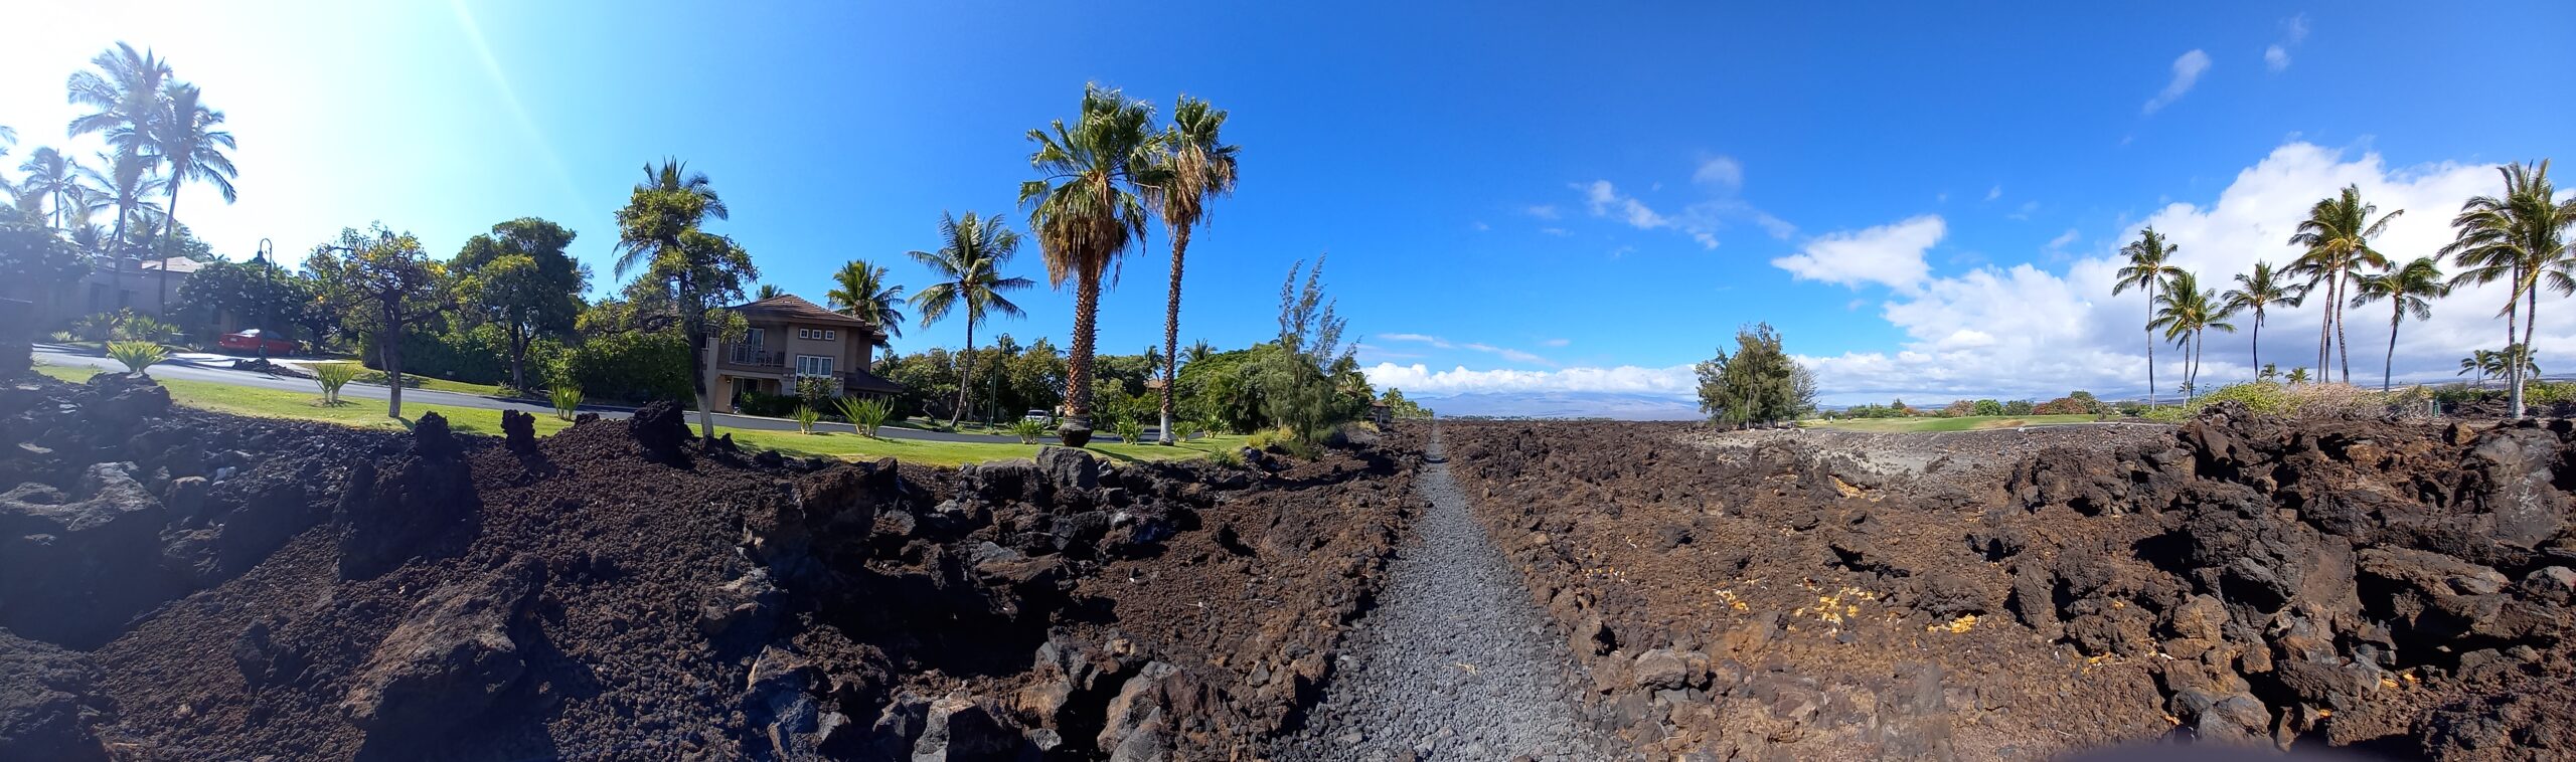
[[[2380,211],[2406,209],[2372,245],[2385,252],[2429,255],[2450,242],[2450,209],[2476,193],[2496,193],[2496,172],[2486,165],[2388,167],[2378,154],[2347,160],[2316,144],[2282,144],[2246,167],[2215,201],[2166,203],[2146,219],[2123,224],[2097,239],[2136,239],[2156,227],[2179,250],[2174,263],[2200,273],[2205,288],[2226,288],[2254,260],[2282,265],[2298,252],[2287,245],[2298,219],[2316,198],[2344,185],[2360,185],[2362,198]],[[2076,242],[2076,232],[2053,247]],[[1942,402],[1955,396],[2035,396],[2071,389],[2102,396],[2138,396],[2146,389],[2146,296],[2110,293],[2117,255],[2102,247],[2063,270],[2035,265],[1978,268],[1960,275],[1927,278],[1904,299],[1888,301],[1880,317],[1906,335],[1899,350],[1801,358],[1819,373],[1826,402]],[[2445,268],[2447,270],[2447,268]],[[2460,288],[2432,306],[2432,319],[2409,319],[2396,345],[2398,381],[2450,381],[2460,355],[2473,348],[2504,345],[2504,286]],[[2563,306],[2563,309],[2555,309]],[[2576,355],[2576,301],[2545,304],[2535,345],[2540,355]],[[2388,306],[2370,304],[2347,311],[2352,342],[2352,381],[2378,384],[2388,350]],[[2254,319],[2239,314],[2236,335],[2210,335],[2202,350],[2202,381],[2231,384],[2254,376]],[[2262,327],[2262,358],[2280,368],[2316,366],[2318,301],[2306,309],[2272,311]],[[1795,337],[1790,350],[1795,350]],[[2182,363],[2172,345],[2156,345],[2159,396],[2172,396]]]

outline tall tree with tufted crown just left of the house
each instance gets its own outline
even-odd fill
[[[644,165],[644,183],[618,209],[616,270],[623,275],[641,265],[639,291],[670,304],[677,317],[690,348],[688,384],[698,396],[698,435],[716,440],[701,348],[739,327],[742,317],[724,306],[742,299],[742,286],[760,278],[760,268],[752,268],[752,255],[734,239],[698,229],[708,216],[724,219],[726,209],[706,172],[690,172],[680,160]]]

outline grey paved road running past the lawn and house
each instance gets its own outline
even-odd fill
[[[103,355],[90,353],[85,348],[67,348],[67,345],[36,345],[36,363],[46,363],[46,366],[85,366],[85,368],[100,368],[100,371],[124,371],[126,368],[124,363],[116,363],[113,358],[103,358]],[[160,366],[152,366],[152,376],[160,376],[160,378],[185,378],[185,381],[214,381],[214,384],[234,384],[234,386],[258,386],[258,389],[281,389],[281,391],[314,391],[314,394],[319,394],[319,389],[314,389],[312,378],[291,378],[291,376],[268,376],[268,373],[252,373],[252,371],[232,371],[229,358],[222,358],[222,355],[185,355],[185,358],[173,358],[173,360],[165,360]],[[389,391],[392,389],[376,386],[376,384],[350,384],[350,386],[340,389],[340,396],[386,399]],[[500,399],[500,396],[482,396],[482,394],[435,391],[435,389],[402,389],[402,402],[479,407],[479,409],[518,409],[518,412],[533,412],[533,414],[554,414],[551,404],[536,404],[536,402],[520,402],[520,399]],[[629,414],[634,414],[631,407],[611,407],[611,404],[582,404],[582,412],[598,412],[600,417],[629,417]],[[690,417],[690,425],[696,425],[696,417]],[[716,425],[721,425],[721,427],[737,427],[737,430],[773,430],[773,432],[775,430],[783,430],[783,432],[796,430],[793,420],[755,417],[755,414],[724,414],[724,412],[716,414]],[[829,432],[855,432],[855,427],[850,427],[845,422],[819,422],[814,427],[817,430],[829,430]],[[884,438],[896,438],[896,440],[1018,443],[1018,438],[1002,438],[1002,435],[930,432],[930,430],[909,430],[909,427],[891,427],[891,425],[889,427],[878,427],[876,432],[884,435]],[[1100,432],[1095,438],[1097,440],[1118,440],[1115,435],[1105,435],[1105,432]]]

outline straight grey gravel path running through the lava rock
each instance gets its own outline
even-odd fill
[[[1605,759],[1566,638],[1468,515],[1432,430],[1419,546],[1388,564],[1303,731],[1275,759]]]

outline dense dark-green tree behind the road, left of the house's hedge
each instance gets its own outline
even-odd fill
[[[569,337],[582,314],[590,268],[569,255],[574,232],[536,216],[495,224],[466,239],[448,270],[466,317],[500,330],[510,389],[528,391],[528,348],[541,337]]]

